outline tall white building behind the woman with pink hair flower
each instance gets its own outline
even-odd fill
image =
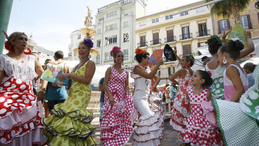
[[[114,46],[124,53],[124,68],[130,69],[136,48],[135,20],[147,14],[147,0],[119,0],[98,9],[95,15],[94,48],[99,51],[96,65],[113,65]]]

